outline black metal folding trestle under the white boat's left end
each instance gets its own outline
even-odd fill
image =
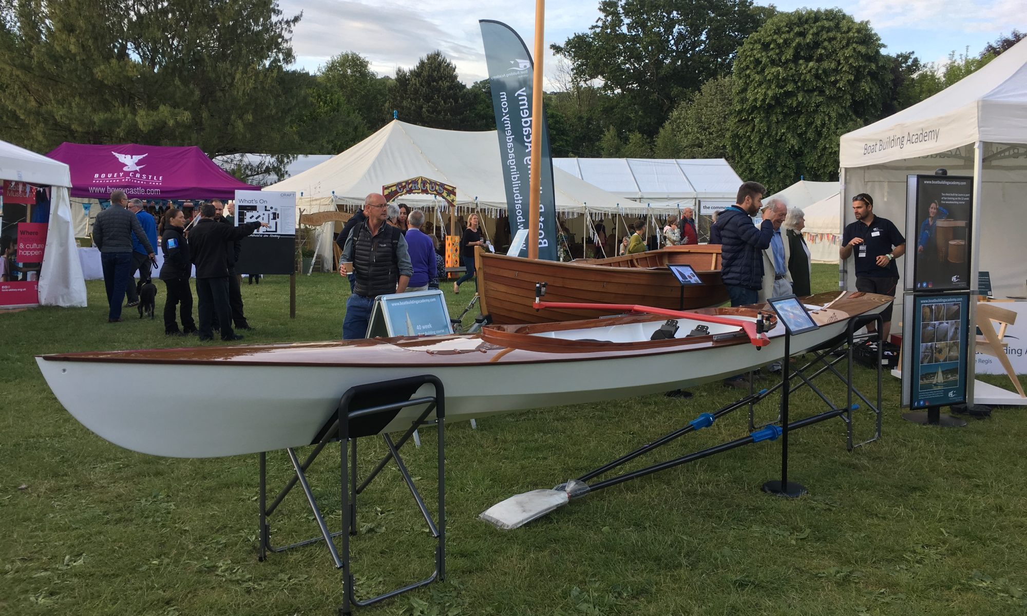
[[[419,396],[416,398],[411,397],[422,385],[431,385],[434,389],[434,395]],[[446,397],[442,382],[436,377],[430,375],[408,377],[392,381],[383,381],[380,383],[370,383],[349,388],[339,400],[338,410],[318,431],[313,442],[311,444],[315,447],[302,464],[297,458],[296,452],[293,451],[292,448],[286,450],[289,454],[289,459],[293,465],[295,473],[289,483],[286,484],[286,487],[282,488],[281,492],[278,493],[278,496],[274,499],[270,506],[266,505],[267,454],[262,453],[260,455],[260,548],[258,560],[263,562],[267,557],[267,553],[269,551],[283,552],[287,549],[292,549],[294,547],[324,541],[329,549],[329,552],[331,552],[332,562],[336,569],[342,570],[343,600],[342,606],[339,608],[339,613],[344,615],[351,614],[353,606],[370,606],[380,601],[393,598],[408,590],[413,590],[426,584],[430,584],[435,580],[442,581],[446,576],[446,461],[444,455],[446,416],[445,400]],[[425,409],[418,414],[416,419],[411,421],[410,428],[404,433],[403,437],[400,438],[398,441],[393,442],[388,434],[381,432],[382,429],[384,429],[403,409],[418,406],[425,406]],[[421,498],[420,493],[414,486],[414,480],[411,477],[410,472],[407,470],[407,466],[400,457],[400,449],[403,448],[403,446],[411,438],[418,426],[429,423],[428,418],[431,415],[434,415],[436,418],[436,420],[432,420],[431,423],[435,423],[439,428],[438,523],[432,519],[431,513],[428,511],[428,507],[424,503],[424,499]],[[388,453],[378,462],[363,483],[357,484],[357,438],[363,436],[373,436],[379,433],[382,434],[385,446],[388,448]],[[325,516],[321,514],[320,509],[314,500],[313,492],[310,490],[310,485],[307,482],[305,473],[310,467],[310,464],[317,458],[317,455],[320,454],[328,444],[334,440],[339,441],[342,530],[333,533],[329,530],[328,525],[325,522]],[[354,577],[350,570],[349,554],[349,537],[350,535],[356,535],[357,528],[356,496],[362,493],[369,484],[371,484],[371,482],[378,475],[385,465],[388,464],[389,460],[395,461],[404,483],[406,483],[407,487],[410,489],[410,493],[416,501],[417,507],[420,509],[421,514],[424,516],[424,519],[428,525],[428,530],[431,533],[431,536],[436,540],[434,553],[435,568],[429,577],[421,581],[408,584],[371,599],[359,601],[356,599]],[[307,502],[310,505],[310,509],[313,512],[314,518],[316,519],[317,526],[320,530],[320,536],[300,541],[298,543],[293,543],[291,545],[286,545],[283,547],[274,547],[271,545],[271,529],[268,524],[268,517],[274,513],[275,509],[279,504],[281,504],[281,501],[297,483],[300,484],[300,487],[303,489],[303,493],[306,495]],[[336,548],[334,541],[334,538],[339,535],[342,536],[341,553]]]

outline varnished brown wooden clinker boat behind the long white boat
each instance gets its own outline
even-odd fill
[[[599,304],[644,304],[677,310],[705,308],[727,301],[727,290],[720,279],[720,245],[673,246],[638,255],[608,259],[582,259],[570,263],[532,261],[519,257],[479,252],[478,292],[482,314],[499,324],[543,323],[595,318],[596,310],[535,310],[535,283],[546,282],[546,301]],[[698,274],[702,284],[684,288],[667,269],[668,265],[687,264]]]

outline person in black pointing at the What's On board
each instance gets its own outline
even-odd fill
[[[232,308],[228,303],[228,251],[232,242],[252,234],[267,223],[230,227],[214,220],[211,203],[200,208],[200,220],[189,231],[189,257],[196,264],[196,297],[199,299],[199,339],[214,340],[214,321],[221,325],[221,339],[242,340],[232,331]]]

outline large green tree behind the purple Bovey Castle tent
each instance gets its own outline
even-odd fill
[[[295,153],[309,106],[275,0],[0,0],[0,129],[63,141]]]

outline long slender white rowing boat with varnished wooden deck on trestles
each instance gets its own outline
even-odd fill
[[[848,317],[880,312],[891,298],[834,293],[805,301],[820,307],[812,317],[822,326],[794,337],[793,352],[844,334]],[[667,316],[624,314],[489,325],[462,336],[64,353],[36,360],[65,409],[115,445],[157,456],[233,456],[310,444],[354,385],[434,375],[445,386],[447,421],[458,421],[688,387],[782,358],[784,326],[765,305],[694,312],[679,317],[675,337],[665,340],[651,338]],[[734,324],[700,316],[729,317]],[[766,346],[757,349],[745,330],[746,321],[760,316],[769,331],[760,339]],[[699,324],[709,332],[688,337]],[[153,396],[154,375],[181,387],[175,395]],[[413,395],[433,393],[422,389]],[[410,427],[423,410],[404,409],[382,431]]]

